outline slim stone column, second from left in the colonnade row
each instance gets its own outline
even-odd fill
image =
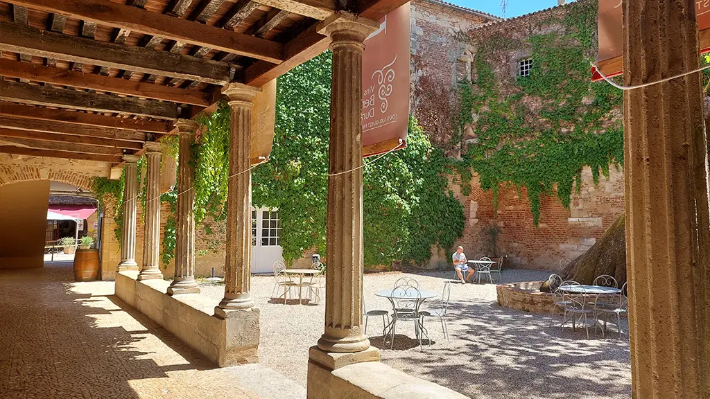
[[[163,278],[160,273],[160,143],[146,143],[146,221],[143,224],[143,267],[138,280]]]

